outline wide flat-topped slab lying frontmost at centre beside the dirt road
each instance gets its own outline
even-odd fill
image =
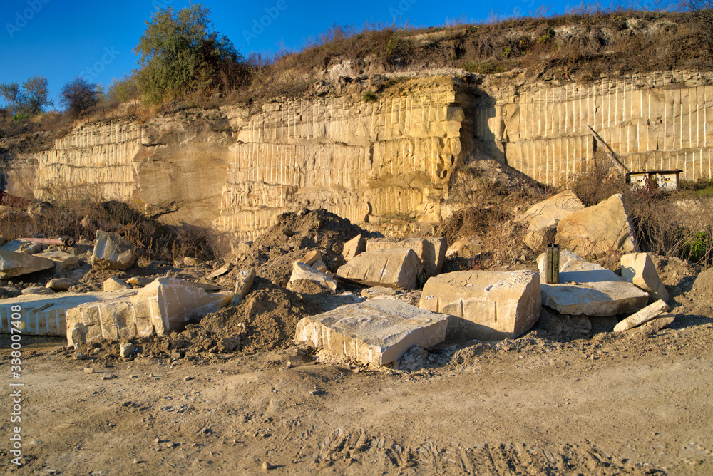
[[[294,340],[363,363],[396,361],[412,346],[431,347],[446,338],[448,316],[410,304],[371,299],[297,323]]]

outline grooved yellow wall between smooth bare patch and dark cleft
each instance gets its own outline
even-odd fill
[[[214,227],[255,239],[279,214],[302,207],[377,228],[379,218],[398,214],[438,222],[463,117],[444,79],[373,103],[346,95],[235,115],[238,142]]]

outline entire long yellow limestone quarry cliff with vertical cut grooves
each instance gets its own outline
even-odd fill
[[[273,100],[257,113],[225,106],[88,123],[51,150],[16,157],[9,190],[41,198],[86,192],[149,212],[177,210],[165,219],[240,239],[302,207],[399,234],[450,213],[451,172],[471,156],[568,185],[603,159],[588,125],[632,171],[711,177],[708,73],[515,81],[421,78],[374,102],[352,93]]]

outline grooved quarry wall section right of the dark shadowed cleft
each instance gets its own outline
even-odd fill
[[[483,151],[547,185],[566,186],[594,157],[591,125],[631,171],[712,177],[710,73],[665,72],[588,84],[493,89],[474,111]],[[597,150],[602,150],[597,148]],[[503,153],[504,151],[504,153]]]

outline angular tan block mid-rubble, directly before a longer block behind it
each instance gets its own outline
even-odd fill
[[[337,270],[337,276],[371,284],[391,284],[415,289],[421,272],[421,260],[411,248],[376,249],[349,260]]]

